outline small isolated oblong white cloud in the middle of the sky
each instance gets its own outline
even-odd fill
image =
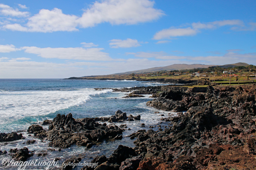
[[[126,40],[110,40],[109,43],[111,48],[131,48],[131,47],[138,47],[141,46],[138,40],[132,40],[127,38]]]

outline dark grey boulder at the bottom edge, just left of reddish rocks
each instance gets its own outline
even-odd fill
[[[142,159],[142,156],[125,159],[125,161],[121,163],[119,170],[136,170],[139,167]]]

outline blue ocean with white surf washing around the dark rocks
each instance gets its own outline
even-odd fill
[[[152,100],[150,95],[144,98],[122,98],[125,92],[113,92],[111,89],[96,91],[93,88],[122,88],[139,86],[164,85],[152,82],[140,82],[129,80],[64,80],[64,79],[0,79],[0,132],[27,130],[31,124],[37,124],[45,119],[52,120],[57,114],[72,113],[74,118],[84,117],[108,117],[115,115],[117,110],[126,112],[127,115],[141,115],[140,121],[115,123],[127,124],[123,132],[123,139],[116,141],[104,141],[94,145],[90,149],[81,146],[72,146],[61,151],[48,152],[40,160],[51,161],[60,158],[60,163],[71,155],[84,155],[83,162],[90,162],[97,155],[109,156],[119,144],[134,147],[133,140],[128,135],[140,130],[149,129],[150,125],[159,123],[160,118],[168,116],[168,113],[155,108],[147,107],[146,102]],[[155,112],[160,112],[155,114]],[[164,116],[160,116],[164,114]],[[144,123],[146,127],[141,127]],[[47,129],[47,126],[43,126]],[[154,130],[157,130],[156,127]],[[27,147],[35,154],[47,150],[48,141],[41,141],[26,132],[23,140],[0,143],[0,150],[7,152],[13,148]],[[27,140],[35,139],[35,144],[26,144]],[[0,156],[0,161],[6,155]],[[33,156],[30,160],[39,159]],[[1,167],[1,166],[0,166]],[[3,169],[17,169],[17,167],[1,167]],[[45,169],[42,167],[27,167],[26,169]],[[80,169],[81,167],[77,167]]]

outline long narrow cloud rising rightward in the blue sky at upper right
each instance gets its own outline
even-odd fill
[[[153,39],[154,40],[162,40],[162,39],[170,39],[172,37],[179,36],[192,36],[196,35],[200,32],[201,29],[216,29],[221,26],[243,26],[244,22],[238,19],[234,20],[222,20],[222,21],[214,21],[208,23],[192,23],[191,27],[187,28],[169,28],[163,29],[157,32]]]

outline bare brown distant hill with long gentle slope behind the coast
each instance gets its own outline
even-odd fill
[[[195,68],[208,68],[217,65],[204,65],[204,64],[172,64],[165,67],[153,67],[144,70],[135,70],[135,71],[127,71],[124,73],[116,73],[116,74],[132,74],[132,73],[144,73],[144,72],[155,72],[161,70],[185,70],[185,69],[195,69]]]

